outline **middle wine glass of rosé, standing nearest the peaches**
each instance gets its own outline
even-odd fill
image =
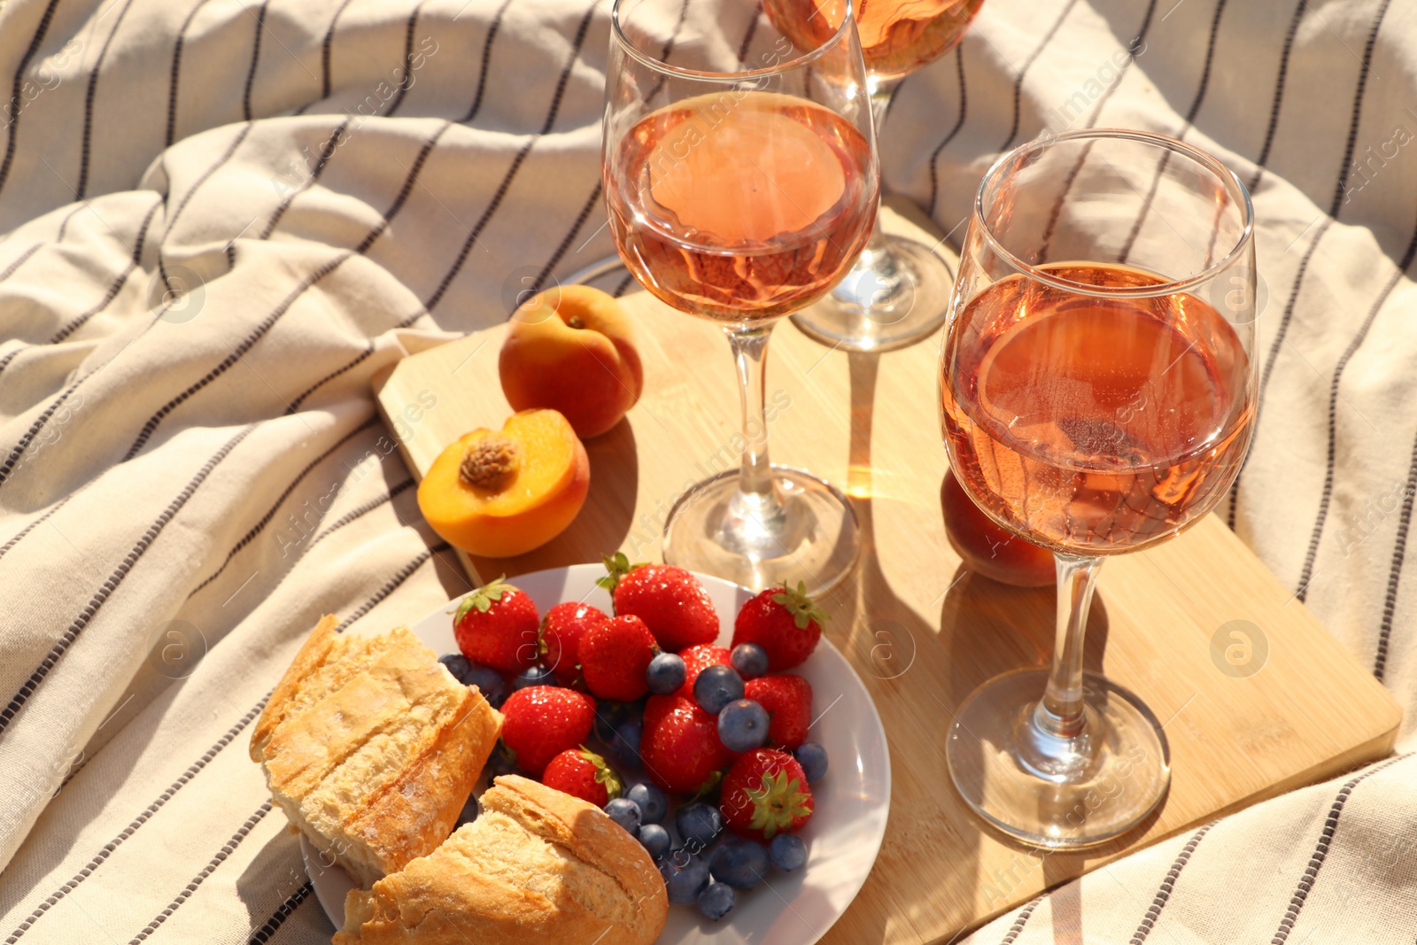
[[[856,513],[836,487],[768,462],[764,363],[772,326],[836,285],[876,220],[850,9],[806,45],[752,0],[616,0],[611,21],[602,176],[615,247],[656,298],[723,327],[741,384],[743,434],[720,451],[741,453],[741,469],[673,503],[665,561],[825,592],[856,561]],[[680,370],[701,370],[696,354],[676,351]]]

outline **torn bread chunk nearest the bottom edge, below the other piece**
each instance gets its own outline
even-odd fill
[[[402,873],[353,890],[334,945],[649,945],[665,881],[599,808],[516,775]]]

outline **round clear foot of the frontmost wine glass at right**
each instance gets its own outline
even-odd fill
[[[1047,679],[1044,669],[1017,670],[976,689],[949,731],[949,775],[975,813],[1023,843],[1105,843],[1146,819],[1166,795],[1166,737],[1134,694],[1085,673],[1091,755],[1073,771],[1047,775],[1023,761],[1037,747],[1032,715]]]

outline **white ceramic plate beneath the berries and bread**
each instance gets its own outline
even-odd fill
[[[541,613],[561,601],[587,601],[609,612],[609,594],[595,587],[595,578],[604,574],[598,564],[580,564],[517,575],[512,582],[527,592]],[[718,643],[727,646],[738,608],[752,592],[718,578],[697,577],[718,611]],[[456,604],[452,601],[412,625],[438,653],[458,649],[448,615]],[[748,941],[812,945],[856,898],[876,863],[890,812],[890,752],[880,715],[856,670],[829,642],[822,640],[795,672],[812,683],[818,720],[811,738],[826,747],[830,759],[826,778],[812,786],[815,812],[801,834],[808,844],[806,867],[791,874],[774,871],[765,885],[740,891],[733,912],[718,922],[703,918],[693,905],[670,905],[659,945]],[[673,815],[666,817],[666,826],[672,820]],[[303,837],[302,850],[320,905],[336,927],[343,927],[344,895],[353,883],[339,867],[326,867]]]

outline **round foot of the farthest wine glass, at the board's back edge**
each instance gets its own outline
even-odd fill
[[[883,252],[867,248],[846,279],[792,323],[832,347],[891,351],[939,330],[954,286],[945,261],[930,247],[886,234]]]

